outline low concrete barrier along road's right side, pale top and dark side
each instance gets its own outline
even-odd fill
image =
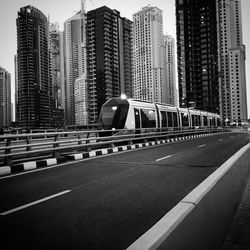
[[[220,249],[249,172],[250,143],[213,172],[128,249]]]

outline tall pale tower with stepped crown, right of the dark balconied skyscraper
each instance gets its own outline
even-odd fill
[[[162,11],[146,6],[133,15],[134,96],[166,103]]]

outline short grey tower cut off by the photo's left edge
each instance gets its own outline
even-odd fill
[[[10,73],[0,66],[0,128],[11,123],[11,77]]]

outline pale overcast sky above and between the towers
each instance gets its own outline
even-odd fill
[[[106,5],[116,9],[122,17],[132,20],[132,15],[146,5],[163,11],[163,31],[176,36],[175,0],[86,0],[87,11]],[[247,16],[250,13],[250,1],[241,0],[243,21],[243,42],[246,45],[246,76],[248,96],[248,117],[250,117],[250,29]],[[14,55],[16,54],[16,17],[21,7],[32,5],[49,16],[50,22],[63,23],[81,8],[81,0],[1,0],[0,8],[0,66],[11,73],[12,97],[14,96]]]

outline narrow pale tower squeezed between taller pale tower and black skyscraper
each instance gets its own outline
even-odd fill
[[[175,73],[175,40],[164,35],[164,69],[166,70],[166,103],[178,106]]]

